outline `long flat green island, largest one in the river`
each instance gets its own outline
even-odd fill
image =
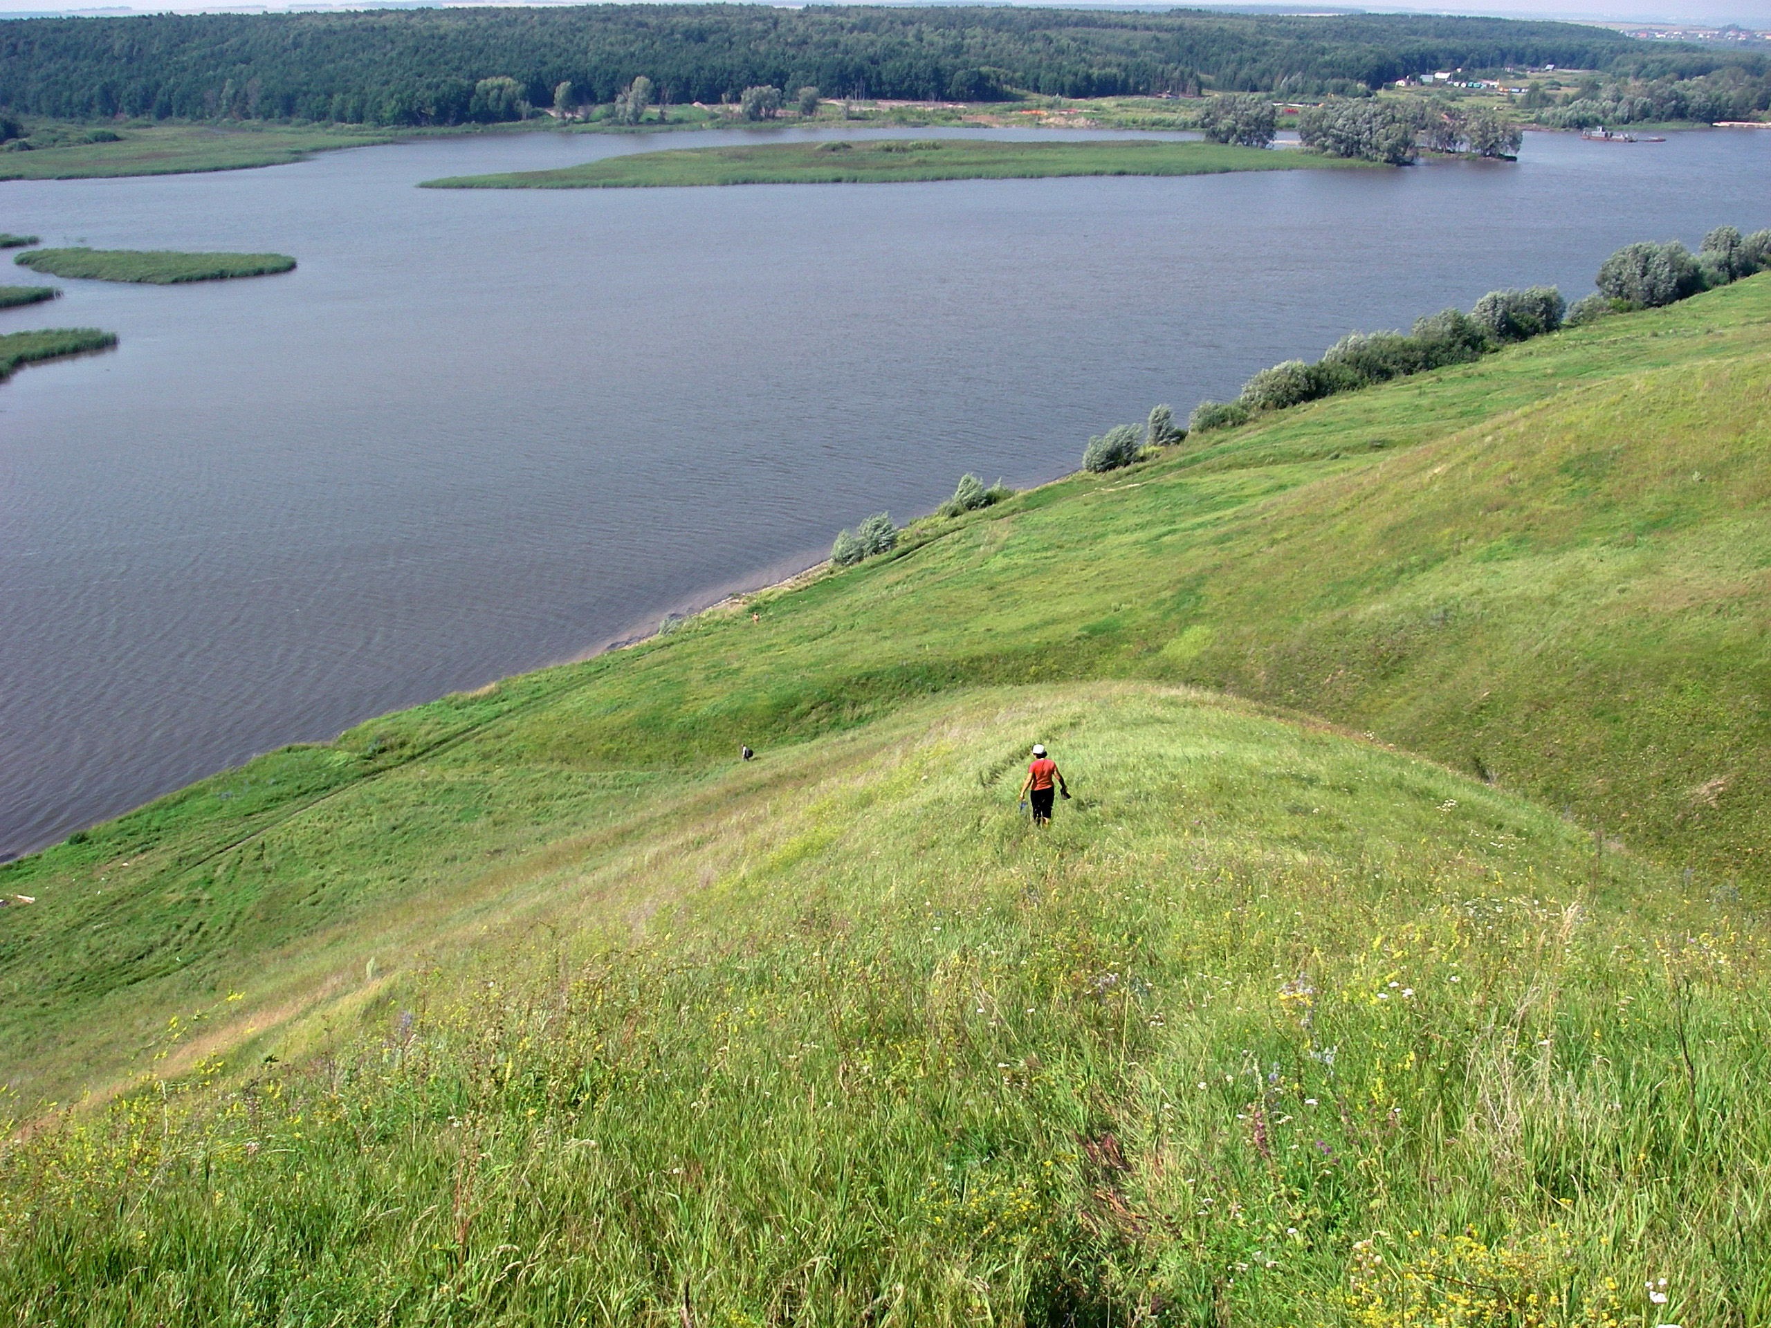
[[[682,184],[887,184],[1045,175],[1210,175],[1231,170],[1369,166],[1305,152],[1162,138],[1029,143],[990,138],[678,147],[560,170],[453,175],[430,189],[638,189]]]

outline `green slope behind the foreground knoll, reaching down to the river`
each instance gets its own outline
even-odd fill
[[[305,1009],[739,742],[979,683],[1229,685],[1760,899],[1767,315],[1755,278],[926,522],[760,623],[390,715],[0,868],[39,899],[0,912],[7,1082],[66,1098],[228,990]]]

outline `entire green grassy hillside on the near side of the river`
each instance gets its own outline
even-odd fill
[[[1771,1319],[1767,349],[1330,398],[0,868],[0,1303]]]

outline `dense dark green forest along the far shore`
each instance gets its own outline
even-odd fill
[[[735,101],[756,87],[972,101],[1008,89],[1319,96],[1447,67],[1638,74],[1643,48],[1571,23],[1408,14],[733,4],[44,18],[0,23],[0,106],[66,119],[460,124],[554,104],[567,83],[586,103],[613,103],[638,78],[661,103]],[[1654,57],[1649,74],[1682,78],[1739,62]]]

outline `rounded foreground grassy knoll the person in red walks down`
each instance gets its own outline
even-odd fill
[[[1079,795],[1047,832],[1032,737]],[[393,783],[468,806],[466,751]],[[0,1156],[12,1316],[1601,1324],[1656,1277],[1682,1324],[1771,1314],[1762,937],[1514,795],[1071,683],[515,861],[487,820],[432,830],[478,905],[282,1064]]]

